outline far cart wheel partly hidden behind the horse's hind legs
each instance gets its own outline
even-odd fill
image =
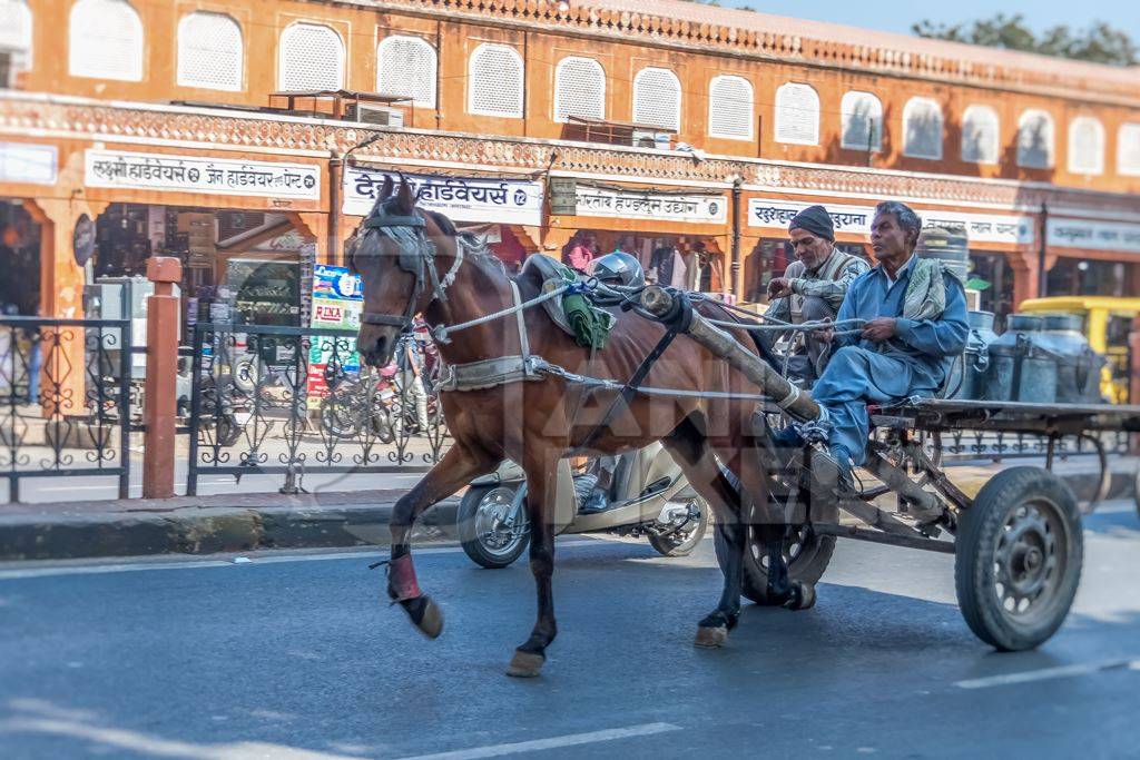
[[[819,509],[817,509],[819,510]],[[830,507],[822,514],[814,515],[820,523],[838,523],[839,509]],[[724,550],[720,532],[714,534],[712,546],[716,549],[717,562]],[[784,539],[784,561],[788,562],[788,579],[796,583],[815,586],[831,562],[836,550],[834,536],[819,536],[809,525],[796,525]],[[723,563],[722,563],[722,566]],[[763,606],[780,606],[781,599],[768,598],[768,556],[764,542],[759,539],[756,528],[749,525],[748,542],[744,545],[744,580],[742,591],[746,597]],[[813,602],[814,604],[814,602]]]

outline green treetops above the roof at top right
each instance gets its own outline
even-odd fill
[[[1025,16],[1000,13],[993,18],[951,26],[927,19],[914,24],[911,31],[928,39],[1024,50],[1113,66],[1134,66],[1140,60],[1140,50],[1127,33],[1106,22],[1094,22],[1089,28],[1077,32],[1059,24],[1039,36],[1026,26]]]

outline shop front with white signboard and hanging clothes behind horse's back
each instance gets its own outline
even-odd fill
[[[580,269],[620,251],[637,258],[651,283],[734,300],[724,194],[559,179],[547,253]]]

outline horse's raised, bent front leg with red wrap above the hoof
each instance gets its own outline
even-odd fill
[[[404,607],[412,623],[429,638],[438,637],[443,630],[443,613],[420,590],[408,541],[412,525],[427,507],[451,496],[472,479],[489,473],[497,464],[495,456],[456,443],[392,508],[388,596]]]

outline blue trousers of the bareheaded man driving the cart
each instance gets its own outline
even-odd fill
[[[858,346],[836,351],[812,387],[812,398],[830,415],[828,448],[831,455],[839,463],[850,457],[855,465],[862,465],[866,460],[866,436],[871,428],[866,404],[929,393],[926,389],[915,389],[913,382],[913,367],[903,359]]]

